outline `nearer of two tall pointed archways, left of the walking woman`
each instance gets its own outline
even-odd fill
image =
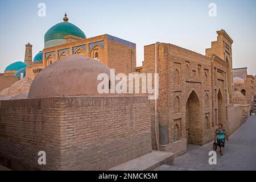
[[[186,105],[186,135],[188,144],[201,144],[200,100],[195,91],[188,97]]]

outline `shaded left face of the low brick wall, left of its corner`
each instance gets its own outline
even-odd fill
[[[11,169],[60,168],[60,118],[58,99],[1,101],[0,162]],[[39,166],[38,152],[47,154]]]

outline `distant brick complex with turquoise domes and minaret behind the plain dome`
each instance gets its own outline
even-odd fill
[[[80,28],[68,22],[67,14],[63,20],[49,28],[44,35],[44,49],[33,60],[32,45],[26,45],[24,62],[10,64],[5,73],[0,75],[0,92],[13,84],[12,80],[18,81],[21,74],[34,80],[44,68],[69,55],[84,55],[96,59],[109,68],[114,68],[116,73],[135,72],[136,44],[108,34],[86,38]]]

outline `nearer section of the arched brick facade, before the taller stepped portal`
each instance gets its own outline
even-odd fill
[[[204,142],[205,114],[209,122],[212,121],[211,61],[209,57],[172,44],[158,44],[156,51],[159,73],[159,128],[155,130],[155,109],[152,105],[152,146],[156,149],[157,131],[160,150],[180,155],[187,150],[187,142]],[[205,79],[204,71],[207,71],[208,80]],[[155,73],[155,44],[144,47],[142,72]],[[208,93],[209,106],[205,106],[205,93]],[[195,94],[195,97],[189,97],[191,94]]]

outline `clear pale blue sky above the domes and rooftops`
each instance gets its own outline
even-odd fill
[[[38,4],[46,3],[46,17],[38,16]],[[216,3],[217,17],[210,17],[209,3]],[[87,38],[110,34],[137,44],[137,65],[143,46],[166,42],[205,55],[205,48],[224,29],[233,38],[233,67],[248,67],[256,74],[255,0],[1,0],[0,72],[14,61],[24,60],[24,45],[35,54],[43,49],[44,34],[62,22],[85,32]]]

